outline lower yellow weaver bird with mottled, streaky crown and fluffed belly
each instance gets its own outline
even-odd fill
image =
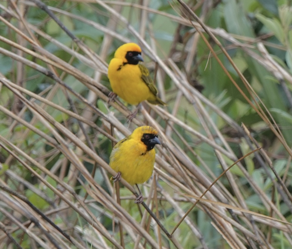
[[[157,131],[151,126],[136,128],[130,136],[119,141],[109,156],[109,166],[116,172],[114,182],[123,177],[129,184],[138,187],[147,181],[154,168],[155,144],[160,144]],[[142,203],[143,196],[139,196],[135,203]]]

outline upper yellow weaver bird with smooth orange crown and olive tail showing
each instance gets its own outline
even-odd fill
[[[149,71],[139,61],[143,61],[141,48],[135,43],[126,43],[116,50],[108,67],[109,83],[113,91],[109,94],[109,101],[118,95],[131,105],[138,105],[144,100],[155,105],[166,105],[156,96],[157,88]]]

